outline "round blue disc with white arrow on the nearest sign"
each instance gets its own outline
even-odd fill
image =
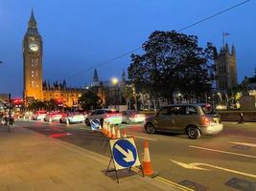
[[[137,160],[137,149],[128,139],[117,140],[113,145],[113,158],[122,167],[131,167]]]

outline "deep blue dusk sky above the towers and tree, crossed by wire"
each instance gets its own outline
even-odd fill
[[[94,66],[140,47],[151,32],[179,30],[242,1],[0,0],[0,93],[22,96],[22,40],[32,8],[43,40],[43,78],[65,78],[81,87],[91,83]],[[255,1],[183,32],[198,35],[202,47],[213,42],[218,50],[221,33],[229,32],[226,41],[236,46],[239,81],[254,75]],[[127,55],[97,68],[100,80],[121,78],[129,63]]]

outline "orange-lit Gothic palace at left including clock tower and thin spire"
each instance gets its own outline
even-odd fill
[[[28,23],[28,30],[23,39],[23,99],[25,106],[28,106],[33,100],[49,101],[55,99],[61,101],[64,107],[78,105],[78,99],[87,88],[67,87],[65,80],[62,82],[43,81],[42,79],[42,57],[43,41],[37,30],[34,11]],[[105,95],[100,88],[97,72],[93,76],[93,86],[98,87],[98,96],[105,102]]]

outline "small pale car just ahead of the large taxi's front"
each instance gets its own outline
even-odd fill
[[[144,122],[146,116],[144,114],[139,114],[137,111],[135,110],[128,110],[128,111],[124,111],[122,112],[122,122],[125,123],[131,123],[131,122]]]

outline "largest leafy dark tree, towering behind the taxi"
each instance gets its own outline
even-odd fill
[[[128,77],[151,97],[173,102],[173,93],[200,95],[214,80],[216,48],[198,46],[198,37],[183,33],[152,32],[143,44],[144,54],[131,54]]]

